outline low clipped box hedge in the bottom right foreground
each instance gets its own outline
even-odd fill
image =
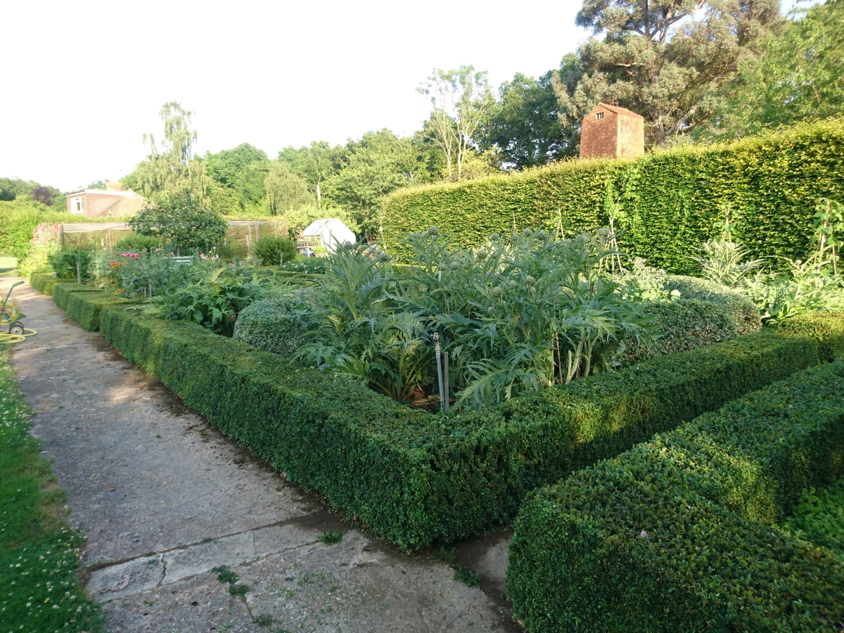
[[[530,495],[514,615],[544,631],[838,631],[844,563],[771,526],[844,468],[844,363],[820,365]]]

